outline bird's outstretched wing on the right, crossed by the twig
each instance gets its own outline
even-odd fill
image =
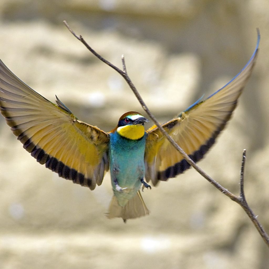
[[[176,118],[162,125],[194,162],[203,158],[231,118],[237,100],[252,73],[259,41],[258,33],[257,46],[252,57],[229,83],[206,100],[198,100]],[[147,133],[145,151],[147,181],[151,180],[153,185],[156,185],[159,180],[173,178],[190,167],[156,126],[148,129]]]

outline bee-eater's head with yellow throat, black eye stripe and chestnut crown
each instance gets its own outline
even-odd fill
[[[118,125],[113,131],[118,132],[119,135],[137,140],[144,136],[145,128],[144,123],[149,122],[140,113],[136,111],[129,111],[124,113],[120,118]],[[113,132],[112,131],[112,132]]]

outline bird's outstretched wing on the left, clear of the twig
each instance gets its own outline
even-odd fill
[[[12,132],[40,164],[93,190],[108,170],[109,136],[79,121],[58,98],[56,103],[24,84],[0,60],[0,111]]]

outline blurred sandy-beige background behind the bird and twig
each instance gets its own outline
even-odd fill
[[[105,131],[143,112],[123,79],[63,25],[127,69],[160,122],[232,79],[261,43],[228,127],[199,165],[247,200],[269,232],[269,3],[65,0],[0,2],[0,58],[51,101]],[[150,125],[148,125],[149,127]],[[269,252],[243,210],[193,169],[144,200],[147,217],[108,220],[109,175],[93,192],[61,179],[22,148],[0,117],[0,268],[266,269]]]

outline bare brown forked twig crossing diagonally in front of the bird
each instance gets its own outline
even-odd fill
[[[213,178],[211,178],[209,175],[206,174],[199,166],[195,164],[195,162],[183,151],[181,147],[175,142],[175,140],[169,136],[169,134],[165,131],[165,129],[160,125],[160,123],[157,121],[155,116],[150,112],[147,105],[143,101],[141,95],[137,91],[136,87],[134,86],[133,82],[131,81],[130,77],[127,74],[126,65],[125,65],[125,59],[122,55],[122,68],[123,70],[119,69],[115,65],[113,65],[111,62],[104,59],[100,54],[98,54],[94,49],[92,49],[87,42],[83,39],[81,35],[76,35],[75,32],[69,27],[68,23],[66,21],[63,21],[65,26],[68,28],[68,30],[75,36],[79,41],[81,41],[89,51],[95,55],[98,59],[100,59],[102,62],[113,68],[116,72],[118,72],[128,83],[129,87],[132,89],[134,95],[136,96],[137,100],[140,102],[142,108],[144,111],[148,114],[148,116],[152,119],[152,121],[156,124],[160,132],[168,139],[168,141],[175,147],[177,151],[182,155],[182,157],[199,173],[201,174],[205,179],[207,179],[214,187],[216,187],[218,190],[220,190],[222,193],[224,193],[226,196],[228,196],[231,200],[238,203],[247,213],[253,224],[255,225],[256,229],[262,236],[264,242],[269,247],[269,236],[264,231],[262,225],[257,220],[257,216],[253,213],[249,205],[247,204],[245,194],[244,194],[244,168],[245,168],[245,160],[246,160],[246,150],[243,151],[243,158],[242,158],[242,165],[241,165],[241,173],[240,173],[240,194],[239,196],[234,195],[233,193],[229,192],[227,189],[222,187],[218,182],[216,182]]]

